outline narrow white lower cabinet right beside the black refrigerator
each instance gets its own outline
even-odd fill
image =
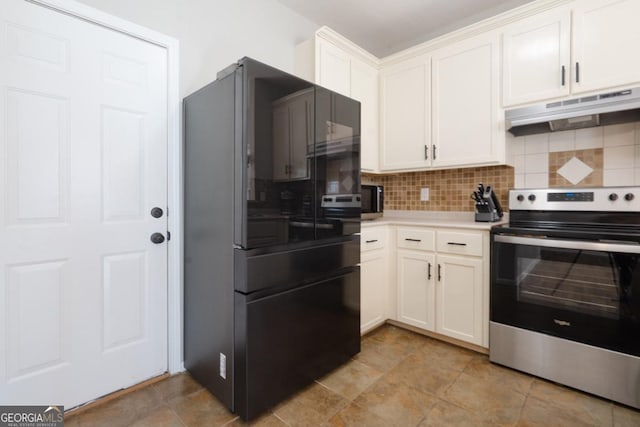
[[[390,317],[388,227],[367,227],[361,233],[360,332],[366,333]]]

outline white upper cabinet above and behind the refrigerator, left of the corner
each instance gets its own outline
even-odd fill
[[[334,92],[360,101],[361,168],[378,166],[378,59],[333,30],[296,46],[295,72]]]

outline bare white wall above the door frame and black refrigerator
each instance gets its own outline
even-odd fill
[[[276,0],[79,0],[180,42],[180,95],[243,56],[293,73],[293,49],[318,25]]]

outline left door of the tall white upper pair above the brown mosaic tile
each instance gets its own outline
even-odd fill
[[[429,81],[424,55],[380,71],[380,169],[429,165]]]

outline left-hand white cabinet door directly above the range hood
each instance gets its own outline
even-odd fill
[[[503,33],[504,106],[569,94],[571,14],[560,8],[512,24]]]

